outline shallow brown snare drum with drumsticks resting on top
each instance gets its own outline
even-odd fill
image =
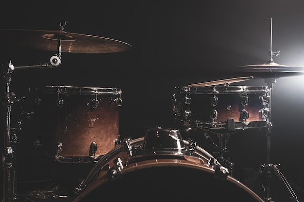
[[[185,126],[216,125],[226,123],[228,119],[244,125],[267,122],[269,91],[267,86],[175,87],[174,119]],[[244,118],[243,112],[248,117]]]

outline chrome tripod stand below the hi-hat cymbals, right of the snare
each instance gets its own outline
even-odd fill
[[[272,124],[270,122],[271,120],[271,97],[272,97],[272,88],[273,88],[273,83],[276,82],[275,78],[266,78],[265,82],[268,83],[268,86],[270,88],[270,98],[269,98],[269,112],[268,112],[268,117],[269,117],[269,122],[267,124],[267,136],[266,136],[266,140],[267,140],[267,151],[266,151],[266,164],[263,164],[259,167],[259,169],[254,173],[251,181],[248,184],[249,188],[252,188],[253,186],[253,182],[256,180],[256,177],[258,176],[258,174],[262,174],[263,176],[263,190],[264,190],[264,199],[265,202],[273,202],[271,200],[270,197],[270,185],[271,185],[271,179],[272,179],[272,174],[275,173],[277,177],[279,177],[285,184],[285,186],[287,187],[289,193],[290,193],[290,199],[292,200],[292,202],[299,202],[297,199],[296,194],[294,193],[294,191],[292,190],[291,186],[289,185],[289,183],[287,182],[286,178],[284,177],[283,173],[281,171],[279,171],[278,166],[280,164],[272,164],[270,163],[270,144],[271,144],[271,128],[272,128]]]

